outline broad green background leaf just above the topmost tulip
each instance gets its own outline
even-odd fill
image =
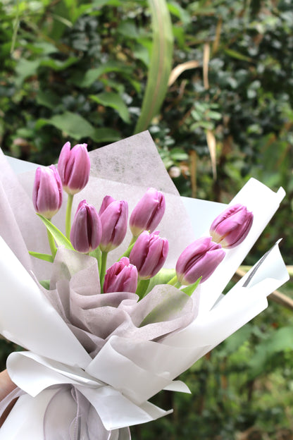
[[[36,123],[36,128],[49,124],[62,130],[66,135],[73,139],[92,138],[94,135],[94,127],[85,118],[79,114],[66,111],[60,115],[54,115],[50,119],[39,119]]]

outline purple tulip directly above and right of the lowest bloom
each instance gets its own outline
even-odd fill
[[[155,276],[163,267],[168,255],[169,244],[166,238],[158,236],[158,231],[140,234],[130,252],[130,263],[135,264],[140,279]]]

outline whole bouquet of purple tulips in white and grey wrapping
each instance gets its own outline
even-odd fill
[[[170,412],[149,398],[189,392],[174,379],[287,280],[275,245],[221,295],[284,191],[251,180],[228,207],[192,200],[195,237],[148,133],[90,154],[67,142],[19,180],[0,169],[0,331],[26,349],[8,357],[1,410],[18,401],[0,440],[130,439]]]

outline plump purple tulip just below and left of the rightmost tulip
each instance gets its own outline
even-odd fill
[[[185,248],[177,259],[176,275],[181,284],[193,284],[200,277],[206,281],[225,257],[225,250],[211,237],[202,237]]]

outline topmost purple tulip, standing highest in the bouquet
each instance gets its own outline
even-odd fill
[[[89,181],[90,167],[87,144],[77,144],[70,150],[70,142],[66,142],[58,159],[63,190],[74,195],[85,188]]]

